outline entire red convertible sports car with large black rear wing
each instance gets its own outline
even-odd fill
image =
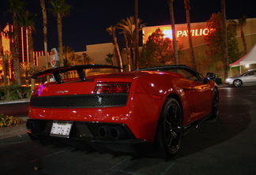
[[[54,81],[32,91],[28,135],[42,143],[66,143],[100,153],[158,151],[170,158],[182,137],[218,114],[214,73],[201,76],[186,65],[86,76],[86,69],[111,65],[75,65],[32,76]],[[63,73],[79,77],[64,79]]]

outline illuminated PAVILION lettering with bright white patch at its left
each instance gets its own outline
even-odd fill
[[[200,28],[200,29],[192,29],[191,31],[192,36],[201,36],[201,35],[209,35],[210,32],[214,32],[214,28]],[[164,37],[172,39],[172,31],[171,29],[164,29],[163,30]],[[176,37],[187,37],[188,36],[188,30],[183,31],[177,31]]]

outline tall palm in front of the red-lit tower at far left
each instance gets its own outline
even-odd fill
[[[20,73],[20,60],[19,60],[19,28],[17,21],[17,14],[21,13],[23,9],[24,2],[21,0],[9,0],[9,12],[13,13],[13,67],[15,80],[17,81],[18,86],[21,86],[21,73]]]

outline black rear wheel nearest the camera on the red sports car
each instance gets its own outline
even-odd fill
[[[156,142],[161,157],[172,158],[183,138],[183,112],[176,99],[164,103],[157,128]]]

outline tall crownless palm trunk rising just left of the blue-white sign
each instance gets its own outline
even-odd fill
[[[45,8],[45,1],[40,0],[40,6],[43,14],[43,46],[44,46],[44,54],[45,54],[45,67],[49,69],[48,66],[48,57],[47,57],[47,9]],[[49,77],[47,76],[47,79]],[[49,80],[47,80],[49,82]]]

